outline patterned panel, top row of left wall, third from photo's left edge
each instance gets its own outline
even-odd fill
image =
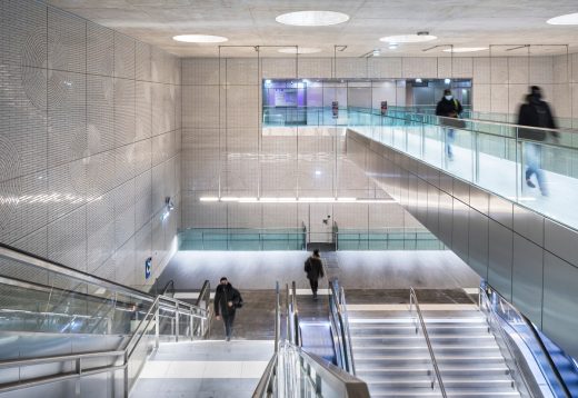
[[[114,32],[87,22],[87,72],[112,76],[114,72]]]

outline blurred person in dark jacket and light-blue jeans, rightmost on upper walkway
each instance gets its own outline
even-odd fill
[[[545,129],[556,129],[552,112],[546,101],[541,100],[541,90],[538,86],[530,87],[530,93],[526,96],[526,103],[522,103],[518,115],[518,125],[539,127]],[[541,141],[546,140],[549,132],[556,139],[557,131],[546,131],[539,129],[518,129],[518,138],[524,139],[524,152],[526,155],[526,185],[536,188],[531,177],[536,175],[538,187],[544,196],[548,196],[548,187],[544,171],[541,170]]]

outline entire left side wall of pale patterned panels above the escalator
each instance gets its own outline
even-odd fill
[[[178,197],[180,60],[153,50],[153,155],[150,46],[40,1],[0,1],[0,241],[136,283],[134,261],[121,273],[118,259],[151,255],[153,156],[158,205]],[[161,228],[159,263],[175,226]]]

